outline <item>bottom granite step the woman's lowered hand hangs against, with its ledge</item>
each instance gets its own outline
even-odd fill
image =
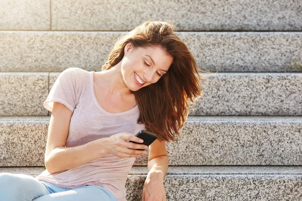
[[[33,177],[43,167],[0,168]],[[146,166],[133,166],[126,199],[141,200]],[[167,200],[300,200],[302,166],[169,166],[164,179]]]

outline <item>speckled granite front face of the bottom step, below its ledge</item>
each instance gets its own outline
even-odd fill
[[[128,176],[127,200],[141,200],[146,176]],[[167,200],[294,200],[302,175],[167,175]]]

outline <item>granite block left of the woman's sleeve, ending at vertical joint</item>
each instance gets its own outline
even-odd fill
[[[0,116],[43,116],[49,93],[47,72],[1,72]]]

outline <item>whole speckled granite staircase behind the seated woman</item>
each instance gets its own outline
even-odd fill
[[[0,2],[0,172],[44,171],[61,71],[98,71],[125,31],[168,20],[204,74],[203,98],[167,143],[167,200],[302,200],[302,2]],[[141,200],[147,156],[127,200]]]

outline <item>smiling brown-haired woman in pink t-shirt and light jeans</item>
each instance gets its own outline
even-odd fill
[[[135,137],[157,134],[149,146],[143,200],[166,200],[166,141],[174,141],[189,106],[201,96],[201,70],[170,22],[147,21],[122,35],[102,71],[60,73],[44,107],[50,111],[46,170],[36,177],[0,174],[1,200],[126,200]],[[202,71],[205,72],[205,71]]]

